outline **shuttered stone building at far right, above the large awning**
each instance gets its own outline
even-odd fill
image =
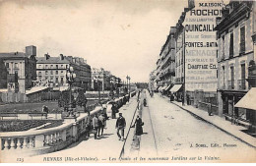
[[[255,85],[250,71],[255,64],[255,1],[230,1],[223,10],[218,30],[219,114],[238,117],[255,125],[252,103],[234,105]],[[254,40],[253,40],[254,39]],[[254,44],[253,44],[254,41]],[[254,70],[255,71],[255,70]],[[251,75],[252,76],[252,75]],[[254,74],[255,77],[255,74]],[[249,79],[250,83],[246,82]],[[253,83],[254,82],[254,83]],[[253,87],[252,87],[253,88]],[[254,87],[255,88],[255,87]],[[249,96],[251,98],[253,96]],[[250,109],[246,109],[250,108]]]

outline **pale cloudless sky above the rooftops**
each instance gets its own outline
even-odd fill
[[[149,82],[187,0],[0,0],[0,52],[83,57],[131,83]]]

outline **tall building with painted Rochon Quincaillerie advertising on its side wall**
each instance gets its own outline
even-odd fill
[[[202,0],[188,2],[176,24],[176,82],[170,91],[184,104],[217,106],[218,45],[214,28],[216,19],[222,16],[223,3],[215,0],[215,5],[208,6]]]

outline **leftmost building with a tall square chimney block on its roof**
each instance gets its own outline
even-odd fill
[[[32,87],[32,81],[36,80],[35,56],[36,47],[33,45],[27,46],[25,53],[0,53],[0,59],[7,71],[7,76],[2,76],[7,78],[7,82],[1,83],[0,88],[8,88],[11,91],[26,93],[26,89]]]

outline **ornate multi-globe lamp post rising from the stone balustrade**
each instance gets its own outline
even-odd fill
[[[73,67],[69,67],[67,69],[66,74],[67,83],[69,83],[69,108],[68,108],[68,116],[74,116],[73,108],[72,108],[72,83],[75,82],[76,74],[74,73]]]

